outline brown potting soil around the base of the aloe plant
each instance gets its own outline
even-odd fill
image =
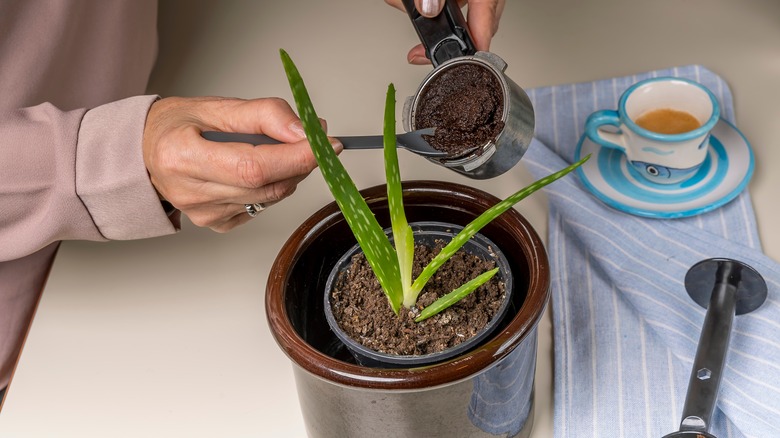
[[[443,247],[415,248],[414,278]],[[504,300],[504,283],[498,275],[459,303],[422,322],[414,322],[420,309],[477,275],[495,267],[464,251],[455,254],[431,278],[417,307],[393,313],[363,253],[352,258],[331,292],[331,307],[339,326],[364,346],[386,354],[422,355],[445,350],[476,335],[493,318]]]

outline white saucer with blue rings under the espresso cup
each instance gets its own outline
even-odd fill
[[[753,175],[753,151],[739,130],[720,119],[710,135],[707,158],[689,179],[676,184],[642,177],[624,153],[583,135],[574,159],[592,154],[577,169],[585,186],[605,204],[637,216],[679,218],[714,210],[734,199]]]

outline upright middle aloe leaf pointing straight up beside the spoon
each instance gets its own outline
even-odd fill
[[[385,179],[387,180],[387,204],[390,210],[390,223],[393,228],[393,241],[401,274],[401,286],[404,291],[403,305],[414,305],[414,297],[410,302],[407,290],[412,287],[412,263],[414,262],[414,234],[412,227],[406,221],[404,212],[403,192],[401,190],[401,170],[398,166],[398,149],[395,138],[395,87],[387,87],[385,98],[384,120],[384,156]]]

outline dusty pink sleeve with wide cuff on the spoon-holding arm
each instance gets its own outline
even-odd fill
[[[0,117],[0,261],[58,240],[139,239],[176,230],[141,153],[155,99],[72,111],[45,103]]]

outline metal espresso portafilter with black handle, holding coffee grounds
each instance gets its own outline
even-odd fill
[[[404,103],[404,129],[411,132],[429,128],[417,126],[418,110],[421,98],[440,75],[464,64],[476,65],[492,74],[501,88],[503,128],[484,144],[469,145],[456,155],[427,159],[474,179],[493,178],[511,169],[525,154],[534,134],[534,110],[528,95],[506,76],[507,63],[503,59],[494,53],[476,50],[457,0],[446,0],[444,9],[434,18],[420,15],[414,0],[403,3],[434,67],[416,93]]]

